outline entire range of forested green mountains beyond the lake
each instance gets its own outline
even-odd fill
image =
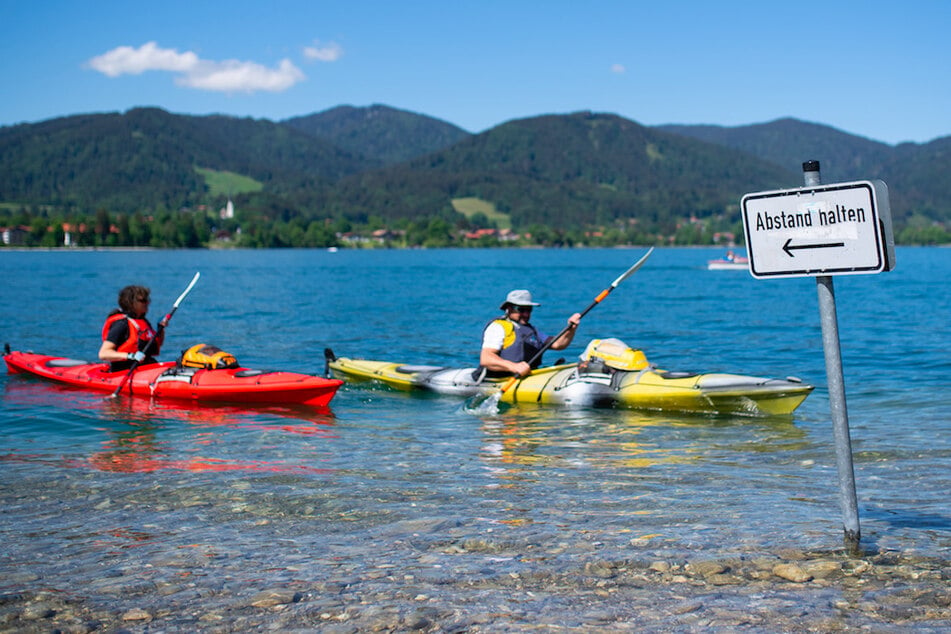
[[[809,159],[824,182],[884,180],[896,231],[951,220],[951,137],[889,146],[795,119],[650,128],[590,112],[471,135],[380,105],[280,123],[137,108],[2,127],[0,212],[174,213],[233,197],[258,226],[466,226],[465,199],[516,230],[637,225],[669,236],[691,217],[736,230],[743,194],[799,186]]]

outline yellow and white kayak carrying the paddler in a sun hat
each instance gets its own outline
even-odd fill
[[[580,363],[539,368],[516,381],[502,402],[772,416],[791,414],[814,389],[794,377],[670,372],[646,363],[636,352],[641,361],[633,365],[589,356]],[[337,378],[375,381],[397,390],[470,397],[497,391],[508,380],[482,378],[477,368],[337,357],[329,349],[325,354],[328,371]],[[622,367],[612,367],[618,365]]]

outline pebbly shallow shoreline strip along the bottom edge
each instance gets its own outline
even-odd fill
[[[295,580],[277,583],[245,578],[223,584],[216,579],[242,576],[233,558],[186,562],[174,553],[139,562],[147,574],[127,559],[95,588],[21,572],[4,584],[0,624],[4,631],[77,631],[95,623],[104,631],[219,632],[951,627],[946,559],[888,552],[849,558],[789,549],[725,558],[697,553],[689,561],[592,555],[566,567],[542,563],[515,572],[492,563],[514,554],[510,550],[468,539],[417,553],[418,560],[405,566],[373,570],[344,559],[318,579],[295,574]],[[454,575],[423,562],[447,556],[462,560],[462,568],[472,565],[465,560],[481,560],[479,574]],[[738,607],[743,604],[748,608]]]

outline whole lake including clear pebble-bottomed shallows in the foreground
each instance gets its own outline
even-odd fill
[[[152,288],[155,323],[200,271],[163,359],[465,366],[510,289],[554,333],[645,251],[0,250],[0,339],[94,358],[121,286]],[[3,374],[0,631],[947,631],[951,250],[835,278],[856,556],[815,281],[707,271],[721,255],[656,250],[557,355],[617,337],[671,370],[798,376],[817,388],[790,417],[477,417],[358,384],[183,409]]]

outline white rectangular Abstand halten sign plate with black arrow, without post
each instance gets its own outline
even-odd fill
[[[894,266],[882,181],[747,194],[741,209],[753,277],[880,273]]]

